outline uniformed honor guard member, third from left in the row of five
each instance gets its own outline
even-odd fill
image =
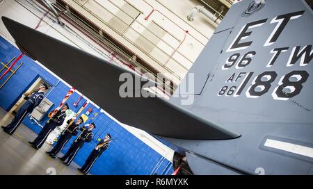
[[[70,124],[70,122],[72,122],[72,120],[68,120],[67,124]],[[63,147],[72,138],[72,136],[75,136],[77,133],[79,133],[79,124],[81,123],[83,123],[83,117],[79,117],[76,122],[73,122],[70,126],[67,126],[67,129],[63,131],[54,148],[51,149],[51,151],[46,151],[46,153],[49,154],[51,158],[56,158],[56,156],[58,156],[60,151],[62,151]]]

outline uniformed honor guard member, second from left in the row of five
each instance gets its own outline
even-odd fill
[[[33,147],[34,149],[40,149],[40,147],[42,147],[51,131],[54,131],[54,129],[56,129],[56,126],[61,126],[63,124],[66,117],[65,111],[68,109],[69,106],[67,103],[65,103],[61,110],[58,110],[58,112],[53,117],[51,117],[51,119],[45,124],[45,126],[38,134],[37,138],[35,138],[33,142],[29,141],[31,147]]]

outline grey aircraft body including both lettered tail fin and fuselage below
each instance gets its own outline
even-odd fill
[[[190,69],[195,74],[195,94],[201,94],[183,106],[241,137],[163,139],[249,174],[313,174],[312,154],[265,145],[272,139],[313,148],[312,10],[305,1],[272,0],[247,11],[253,2],[241,1],[230,8]],[[211,56],[214,47],[218,56]],[[188,85],[186,79],[184,84]],[[170,101],[179,104],[177,98]],[[196,156],[188,161],[199,167],[203,158],[198,163]],[[230,174],[230,170],[214,168],[214,173]]]

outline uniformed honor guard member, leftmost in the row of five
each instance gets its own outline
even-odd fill
[[[40,104],[42,99],[45,98],[44,92],[48,89],[46,83],[42,83],[38,88],[37,92],[32,92],[31,94],[23,94],[24,99],[27,101],[22,105],[17,111],[17,114],[13,118],[12,122],[8,126],[1,126],[3,131],[12,135],[19,124],[21,124],[28,113],[31,113],[33,109]]]

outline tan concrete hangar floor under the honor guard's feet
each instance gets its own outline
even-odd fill
[[[0,125],[6,126],[13,116],[0,108],[0,119]],[[36,136],[24,124],[13,135],[0,129],[0,174],[81,175],[76,163],[72,162],[67,167],[58,158],[50,158],[45,151],[51,149],[51,145],[45,143],[41,149],[33,149],[28,141],[33,141]]]

